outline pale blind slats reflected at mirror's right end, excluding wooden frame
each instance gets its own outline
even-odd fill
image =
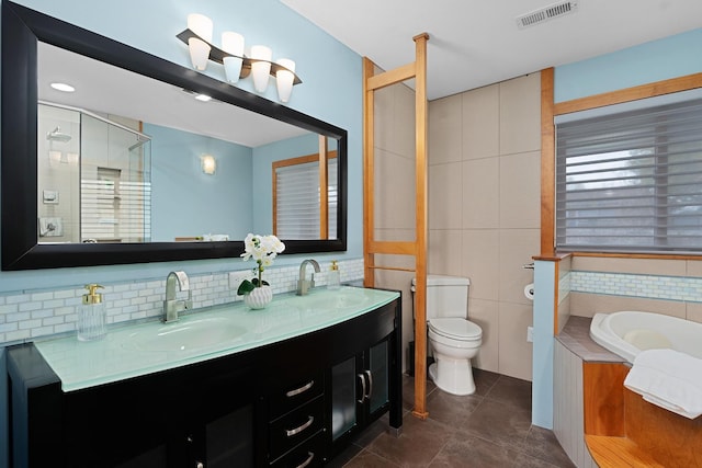
[[[319,239],[319,163],[275,168],[276,229],[282,239]],[[328,164],[329,238],[337,238],[337,160]]]

